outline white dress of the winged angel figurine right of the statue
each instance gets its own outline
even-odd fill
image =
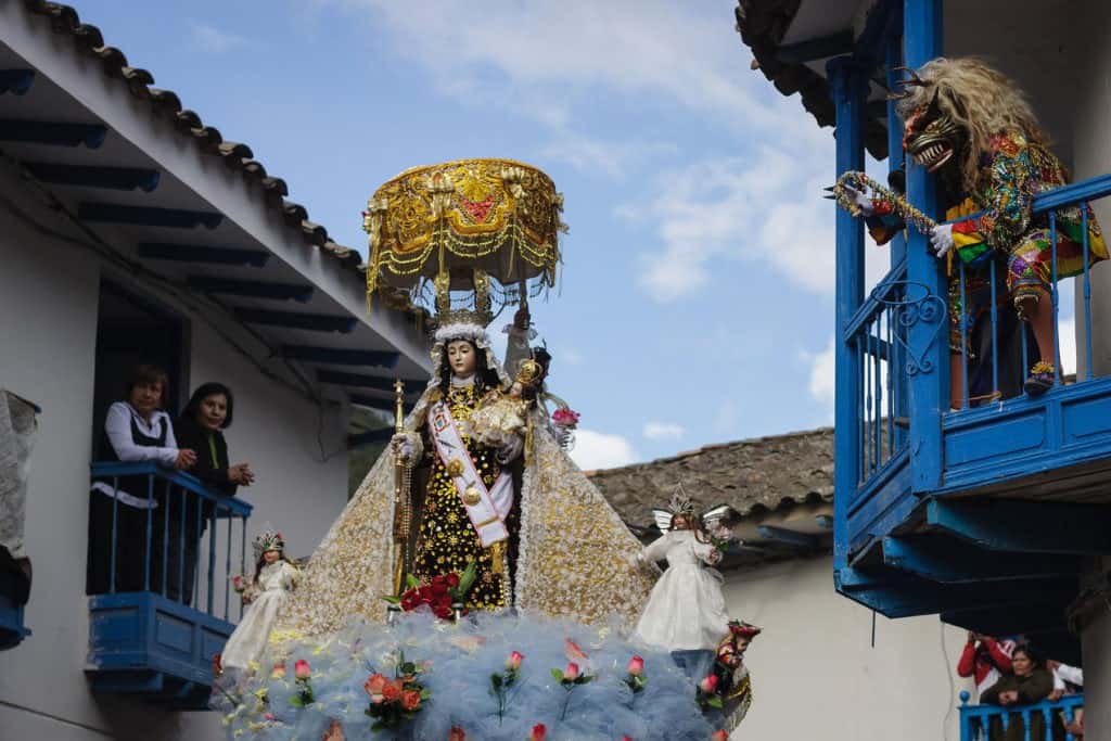
[[[635,637],[669,651],[713,650],[729,633],[722,575],[705,564],[721,560],[721,552],[698,540],[693,530],[671,530],[641,553],[644,561],[668,560],[644,611]]]

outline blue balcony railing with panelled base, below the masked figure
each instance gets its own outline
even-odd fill
[[[930,274],[915,274],[914,261],[900,261],[843,326],[839,363],[851,369],[853,405],[852,419],[839,418],[837,423],[839,428],[848,423],[854,439],[851,459],[839,455],[838,464],[853,470],[855,485],[844,492],[847,517],[857,521],[850,522],[847,532],[852,550],[864,544],[868,532],[885,532],[890,530],[887,524],[899,524],[877,522],[874,515],[897,513],[897,520],[905,515],[907,510],[891,504],[911,491],[970,492],[988,483],[998,488],[1008,478],[1111,459],[1111,434],[1104,434],[1111,433],[1111,378],[1098,378],[1093,367],[1091,246],[1084,208],[1108,196],[1111,174],[1054,189],[1033,201],[1034,218],[1049,224],[1053,278],[1055,373],[1052,388],[1042,395],[1031,397],[1022,389],[1022,380],[1038,360],[1037,344],[1028,324],[1018,321],[1008,306],[1002,280],[1005,264],[994,256],[978,276],[987,309],[975,338],[969,332],[968,302],[959,309],[960,337],[952,338],[953,344],[960,342],[960,362],[952,371],[960,373],[958,379],[950,378],[950,307],[940,290],[940,261],[928,266]],[[1070,216],[1080,227],[1073,237],[1082,263],[1075,277],[1075,317],[1064,323],[1071,328],[1074,321],[1080,339],[1074,382],[1061,372],[1065,342],[1057,279],[1058,246],[1063,239],[1058,224],[1064,209],[1072,209]],[[963,293],[972,274],[959,259],[954,269]],[[947,403],[948,388],[922,392],[930,384],[940,385],[939,379],[957,381],[954,388],[961,389],[953,400],[955,409]],[[847,405],[840,409],[848,411]],[[913,460],[908,454],[912,427],[921,441]]]

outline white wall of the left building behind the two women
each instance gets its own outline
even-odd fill
[[[0,198],[63,228],[24,196],[0,170]],[[0,738],[221,738],[216,713],[168,713],[93,698],[87,689],[86,540],[102,273],[110,270],[88,250],[33,232],[0,208],[0,387],[43,409],[27,504],[34,583],[26,622],[33,634],[0,655]],[[342,410],[330,408],[321,422],[316,404],[264,378],[199,317],[187,317],[190,385],[220,380],[237,393],[227,437],[232,458],[258,473],[242,492],[256,505],[251,524],[269,520],[292,554],[311,553],[347,501],[346,452],[326,462],[320,453],[321,444],[327,453],[342,450]],[[238,552],[237,542],[234,567]]]

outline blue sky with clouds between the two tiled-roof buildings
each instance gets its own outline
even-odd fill
[[[832,421],[832,136],[750,70],[734,7],[77,3],[350,247],[406,168],[551,174],[571,231],[533,317],[587,468]]]

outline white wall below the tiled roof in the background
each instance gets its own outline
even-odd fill
[[[964,632],[888,620],[833,590],[832,557],[728,574],[730,614],[764,629],[749,649],[752,709],[735,739],[959,739]]]

